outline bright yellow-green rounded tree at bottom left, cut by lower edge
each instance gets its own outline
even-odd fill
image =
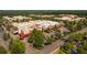
[[[25,52],[25,45],[20,40],[11,40],[9,50],[12,54],[22,54]]]

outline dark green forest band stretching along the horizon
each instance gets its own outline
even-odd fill
[[[0,15],[29,14],[78,14],[87,15],[87,10],[0,10]]]

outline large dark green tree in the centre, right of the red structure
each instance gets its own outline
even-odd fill
[[[34,29],[31,33],[31,35],[29,35],[29,39],[28,41],[30,42],[33,42],[33,45],[36,47],[36,48],[42,48],[43,45],[44,45],[44,34]]]

